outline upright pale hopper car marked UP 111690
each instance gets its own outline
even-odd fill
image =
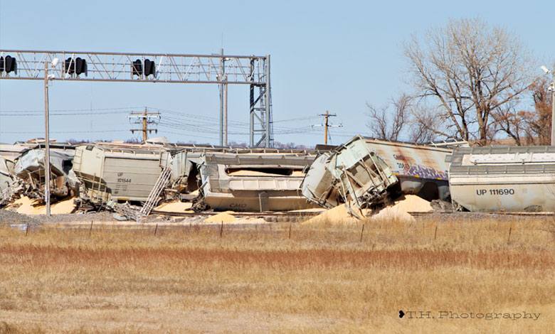
[[[454,202],[470,211],[555,211],[555,147],[459,148],[448,158]]]

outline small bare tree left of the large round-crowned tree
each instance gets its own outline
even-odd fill
[[[379,108],[368,103],[366,105],[368,106],[368,116],[370,117],[366,126],[371,130],[372,136],[389,141],[398,141],[401,131],[408,126],[411,97],[401,94]],[[391,106],[393,106],[393,113],[390,115]]]

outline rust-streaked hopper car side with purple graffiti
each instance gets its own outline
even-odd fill
[[[397,176],[401,193],[426,200],[449,200],[448,163],[451,149],[366,138],[366,144]]]

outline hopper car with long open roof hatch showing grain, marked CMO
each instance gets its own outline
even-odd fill
[[[214,210],[286,211],[314,208],[300,193],[309,153],[204,153],[201,192]]]

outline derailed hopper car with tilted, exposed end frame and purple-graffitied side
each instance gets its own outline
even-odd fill
[[[333,156],[341,156],[349,151],[348,166],[329,163]],[[451,149],[355,136],[336,148],[335,152],[316,159],[303,181],[302,191],[307,198],[327,208],[349,198],[361,208],[363,205],[380,203],[388,196],[394,198],[401,193],[416,194],[426,200],[450,200],[448,164],[445,163],[445,157],[451,152]],[[369,160],[370,157],[375,158]],[[355,161],[359,162],[359,166],[356,166]],[[349,168],[353,170],[349,171]],[[338,182],[340,178],[334,177],[332,171],[338,176],[344,173],[349,177]],[[395,182],[388,173],[395,178]],[[366,174],[372,177],[369,178]],[[366,179],[360,180],[362,176]],[[342,189],[353,187],[366,192],[374,191],[375,195],[366,198],[359,198],[358,195],[347,197]]]

